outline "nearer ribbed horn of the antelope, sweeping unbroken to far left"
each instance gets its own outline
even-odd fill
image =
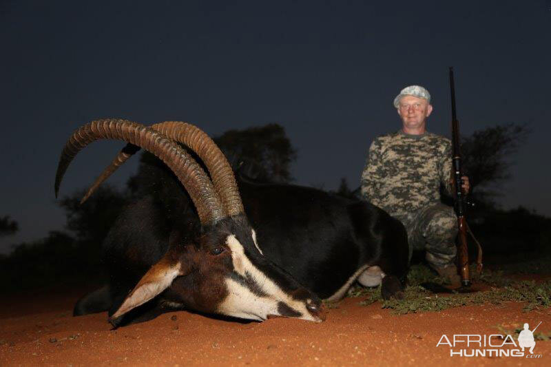
[[[128,120],[94,120],[83,125],[67,140],[57,166],[55,193],[70,162],[86,145],[100,139],[125,140],[163,160],[174,171],[197,209],[201,224],[226,216],[211,180],[198,163],[178,144],[163,134]]]

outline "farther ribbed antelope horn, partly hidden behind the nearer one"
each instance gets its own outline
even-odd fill
[[[176,140],[195,151],[209,169],[209,173],[214,184],[216,192],[222,200],[222,205],[229,216],[243,213],[243,204],[239,195],[239,189],[233,170],[229,165],[225,155],[214,141],[195,125],[178,121],[166,121],[150,125],[154,129],[168,138]],[[103,181],[113,174],[120,165],[138,151],[139,148],[132,144],[127,144],[114,158],[111,165],[107,167],[94,184],[88,189],[81,203],[92,195]]]

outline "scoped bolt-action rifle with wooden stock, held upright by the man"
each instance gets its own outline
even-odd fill
[[[461,169],[461,145],[459,136],[459,121],[455,112],[455,85],[453,83],[453,67],[450,67],[450,90],[452,98],[452,170],[453,170],[453,182],[455,193],[455,214],[457,215],[457,226],[459,233],[457,235],[457,267],[459,274],[461,275],[461,284],[465,287],[470,286],[470,274],[469,274],[469,253],[467,247],[467,233],[472,235],[472,238],[478,245],[477,256],[477,271],[482,271],[482,247],[472,234],[468,227],[467,220],[465,218],[466,212],[466,195],[464,195],[461,189],[463,183],[461,177],[463,171]]]

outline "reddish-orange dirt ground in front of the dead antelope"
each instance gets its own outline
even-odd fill
[[[325,322],[276,318],[239,323],[185,311],[110,330],[106,313],[72,317],[83,291],[25,293],[0,302],[0,366],[550,366],[551,342],[526,357],[450,357],[443,334],[491,335],[497,326],[550,333],[551,310],[484,304],[439,313],[393,315],[380,303],[347,298]],[[496,344],[496,343],[495,343]],[[457,347],[460,349],[461,347]],[[464,348],[464,347],[463,347]]]

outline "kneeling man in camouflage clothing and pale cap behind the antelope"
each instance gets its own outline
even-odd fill
[[[451,142],[426,130],[433,112],[428,90],[405,87],[394,99],[402,129],[376,138],[362,172],[362,196],[404,223],[410,258],[426,251],[428,264],[450,284],[459,285],[455,266],[457,216],[440,200],[440,187],[452,195]],[[467,176],[461,185],[465,193]]]

